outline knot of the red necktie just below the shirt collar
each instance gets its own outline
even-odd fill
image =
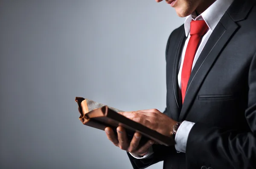
[[[193,20],[190,23],[190,35],[203,36],[208,29],[204,20]]]

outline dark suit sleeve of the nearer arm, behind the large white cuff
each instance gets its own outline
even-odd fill
[[[188,166],[256,169],[256,54],[250,64],[248,85],[248,107],[245,110],[245,118],[250,131],[244,133],[227,131],[195,123],[189,132],[186,146]]]

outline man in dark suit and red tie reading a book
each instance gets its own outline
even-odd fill
[[[167,42],[166,110],[121,114],[176,144],[139,147],[141,135],[128,142],[122,127],[108,138],[134,169],[256,168],[256,0],[166,2],[186,17]]]

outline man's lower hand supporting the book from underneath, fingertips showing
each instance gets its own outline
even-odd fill
[[[105,128],[108,139],[120,149],[123,149],[127,152],[130,152],[134,156],[143,156],[148,153],[149,147],[154,144],[154,141],[149,140],[143,146],[139,146],[141,134],[138,132],[134,133],[134,136],[131,141],[128,141],[125,128],[119,126],[116,128],[117,137],[113,130],[110,127]]]

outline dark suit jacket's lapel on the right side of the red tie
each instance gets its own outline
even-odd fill
[[[189,108],[209,70],[218,58],[222,48],[239,28],[236,22],[244,20],[251,7],[252,0],[246,0],[245,2],[243,0],[235,0],[212,32],[191,72],[179,121],[186,118]]]

